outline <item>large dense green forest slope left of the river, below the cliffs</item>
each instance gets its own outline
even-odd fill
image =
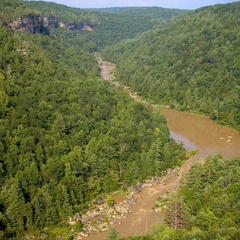
[[[161,112],[100,78],[77,44],[85,33],[43,31],[41,11],[20,1],[1,1],[0,12],[0,238],[55,239],[54,228],[71,237],[69,217],[93,199],[185,159]],[[11,28],[21,13],[29,32]]]

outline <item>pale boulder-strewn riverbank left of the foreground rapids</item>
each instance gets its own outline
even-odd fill
[[[139,195],[146,187],[152,187],[156,184],[165,185],[164,181],[173,175],[177,175],[179,169],[169,169],[165,177],[153,177],[146,180],[144,183],[138,183],[137,185],[130,186],[128,188],[125,199],[121,202],[113,202],[113,206],[109,206],[106,200],[95,201],[95,204],[83,215],[75,214],[73,218],[69,219],[69,226],[74,227],[77,223],[81,223],[84,227],[79,232],[75,239],[80,240],[83,237],[87,237],[89,234],[96,232],[107,231],[111,226],[121,224],[122,219],[127,218],[128,214],[131,214],[131,208],[137,203]],[[153,210],[158,211],[154,208]]]

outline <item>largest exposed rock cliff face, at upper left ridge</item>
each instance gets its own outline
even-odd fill
[[[26,31],[29,33],[41,33],[43,31],[43,20],[38,15],[29,15],[18,18],[9,24],[15,31]]]

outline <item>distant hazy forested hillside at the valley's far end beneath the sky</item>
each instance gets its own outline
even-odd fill
[[[39,10],[43,17],[50,17],[50,21],[72,25],[72,30],[78,31],[84,25],[90,27],[91,31],[84,31],[81,36],[75,38],[75,41],[78,44],[86,44],[91,51],[97,51],[103,46],[117,43],[123,39],[133,38],[139,33],[152,29],[165,19],[185,12],[184,10],[156,7],[133,8],[117,14],[87,11],[43,1],[26,3]]]

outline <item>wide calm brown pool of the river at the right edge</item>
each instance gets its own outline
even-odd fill
[[[162,109],[171,137],[182,141],[187,150],[199,149],[198,156],[222,153],[226,159],[240,157],[240,133],[216,124],[209,117]]]

